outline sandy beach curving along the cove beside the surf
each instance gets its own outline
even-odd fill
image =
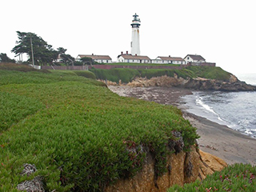
[[[180,97],[192,94],[191,90],[177,87],[130,87],[108,86],[120,96],[134,97],[164,105],[174,105],[182,110],[183,117],[198,129],[198,146],[201,150],[214,154],[228,164],[250,163],[256,166],[256,139],[232,130],[227,126],[211,122],[186,112]]]

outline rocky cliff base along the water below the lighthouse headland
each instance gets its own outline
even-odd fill
[[[250,91],[256,90],[256,86],[241,82],[233,74],[230,75],[230,80],[225,82],[216,79],[208,78],[178,78],[174,77],[157,77],[157,78],[135,78],[129,82],[127,86],[178,86],[193,90],[224,90],[224,91]]]

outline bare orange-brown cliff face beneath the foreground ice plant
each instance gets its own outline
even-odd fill
[[[167,157],[166,174],[156,178],[154,172],[154,158],[148,154],[146,162],[133,178],[120,179],[112,186],[107,186],[107,192],[162,192],[174,184],[184,185],[196,179],[204,179],[207,174],[222,170],[226,162],[214,155],[207,154],[193,146],[190,152],[179,152]]]

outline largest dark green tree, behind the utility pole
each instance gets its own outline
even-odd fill
[[[46,41],[44,41],[41,37],[38,37],[37,34],[33,33],[25,33],[17,31],[18,41],[11,50],[15,56],[20,54],[28,54],[29,59],[28,62],[32,63],[32,50],[31,50],[31,42],[34,52],[34,63],[36,65],[47,65],[52,64],[54,60],[58,58],[58,51],[54,50],[52,46],[48,45]]]

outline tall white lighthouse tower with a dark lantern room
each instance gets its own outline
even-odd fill
[[[132,55],[140,55],[141,51],[139,49],[139,26],[141,25],[141,20],[138,18],[138,14],[134,14],[133,22],[130,24],[132,27],[131,42],[130,42],[130,53]]]

